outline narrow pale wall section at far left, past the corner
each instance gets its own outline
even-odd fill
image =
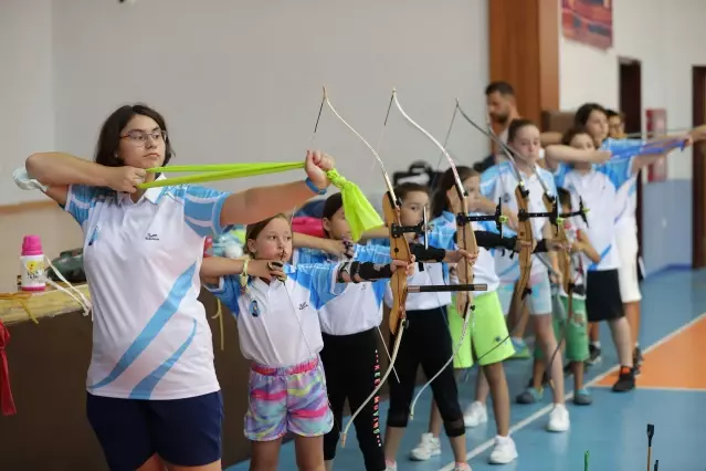
[[[0,2],[0,205],[41,199],[20,191],[12,171],[54,147],[52,0]]]

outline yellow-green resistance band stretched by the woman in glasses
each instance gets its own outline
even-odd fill
[[[260,164],[213,164],[213,165],[173,165],[147,169],[150,174],[160,172],[197,172],[183,177],[166,178],[145,184],[137,188],[171,187],[187,184],[202,184],[207,181],[226,180],[231,178],[254,177],[256,175],[278,174],[282,171],[304,168],[304,163],[260,163]],[[200,174],[199,174],[200,172]],[[383,226],[380,214],[375,210],[368,198],[352,181],[348,181],[337,170],[329,170],[326,176],[336,188],[340,190],[344,200],[346,221],[350,226],[354,241],[360,240],[360,236],[370,229]]]

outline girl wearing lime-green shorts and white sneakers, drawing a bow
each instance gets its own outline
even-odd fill
[[[467,191],[470,206],[475,206],[480,201],[480,175],[470,167],[457,167],[459,176],[464,189]],[[455,188],[454,175],[451,169],[444,172],[439,184],[439,189],[434,195],[432,224],[456,230],[456,209],[459,208],[459,196]],[[455,208],[455,209],[454,209]],[[473,212],[471,216],[477,216]],[[495,261],[492,250],[502,248],[508,251],[518,250],[517,238],[503,238],[497,232],[493,221],[474,221],[474,232],[478,244],[478,258],[473,266],[474,283],[487,284],[487,291],[474,294],[473,302],[475,311],[473,323],[468,325],[468,332],[463,339],[463,345],[454,357],[454,368],[461,370],[471,368],[475,362],[480,363],[482,370],[478,371],[478,384],[484,381],[484,376],[489,378],[489,393],[493,396],[493,408],[495,411],[495,422],[497,436],[495,447],[491,453],[489,462],[493,464],[504,464],[517,458],[515,442],[509,437],[509,393],[507,379],[503,368],[503,362],[513,356],[515,348],[510,342],[503,307],[497,294],[499,280],[495,273]],[[482,232],[477,232],[482,231]],[[457,234],[457,233],[456,233]],[[493,238],[492,236],[495,236]],[[463,318],[455,308],[455,300],[452,300],[447,307],[449,329],[453,345],[461,341],[463,332]],[[486,400],[488,386],[476,388],[476,400],[464,412],[465,427],[476,427],[487,421]],[[441,416],[435,402],[432,402],[432,415],[429,425],[429,432],[422,435],[420,443],[412,450],[412,458],[415,460],[428,460],[432,456],[441,453],[439,436],[441,433]]]

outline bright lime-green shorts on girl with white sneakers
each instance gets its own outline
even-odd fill
[[[471,368],[473,358],[481,358],[481,365],[492,365],[515,355],[515,347],[509,339],[500,299],[496,292],[484,293],[473,297],[475,312],[468,320],[468,332],[463,345],[453,359],[453,367],[457,369]],[[449,329],[454,348],[459,346],[463,332],[463,318],[456,311],[455,295],[451,300],[449,312]],[[473,344],[471,339],[473,338]],[[502,345],[499,343],[503,342]],[[498,346],[499,345],[499,346]],[[473,348],[473,350],[472,350]],[[492,352],[491,352],[492,350]],[[491,352],[488,354],[488,352]],[[487,355],[486,355],[487,354]]]

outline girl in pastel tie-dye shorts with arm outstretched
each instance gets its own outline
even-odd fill
[[[201,276],[236,317],[241,352],[252,360],[245,416],[252,467],[276,469],[282,438],[289,431],[296,435],[297,463],[322,469],[323,437],[334,417],[319,367],[324,344],[317,311],[344,293],[345,283],[388,279],[398,269],[411,273],[414,265],[292,266],[286,263],[292,229],[283,214],[249,224],[245,239],[250,259],[206,259]]]

